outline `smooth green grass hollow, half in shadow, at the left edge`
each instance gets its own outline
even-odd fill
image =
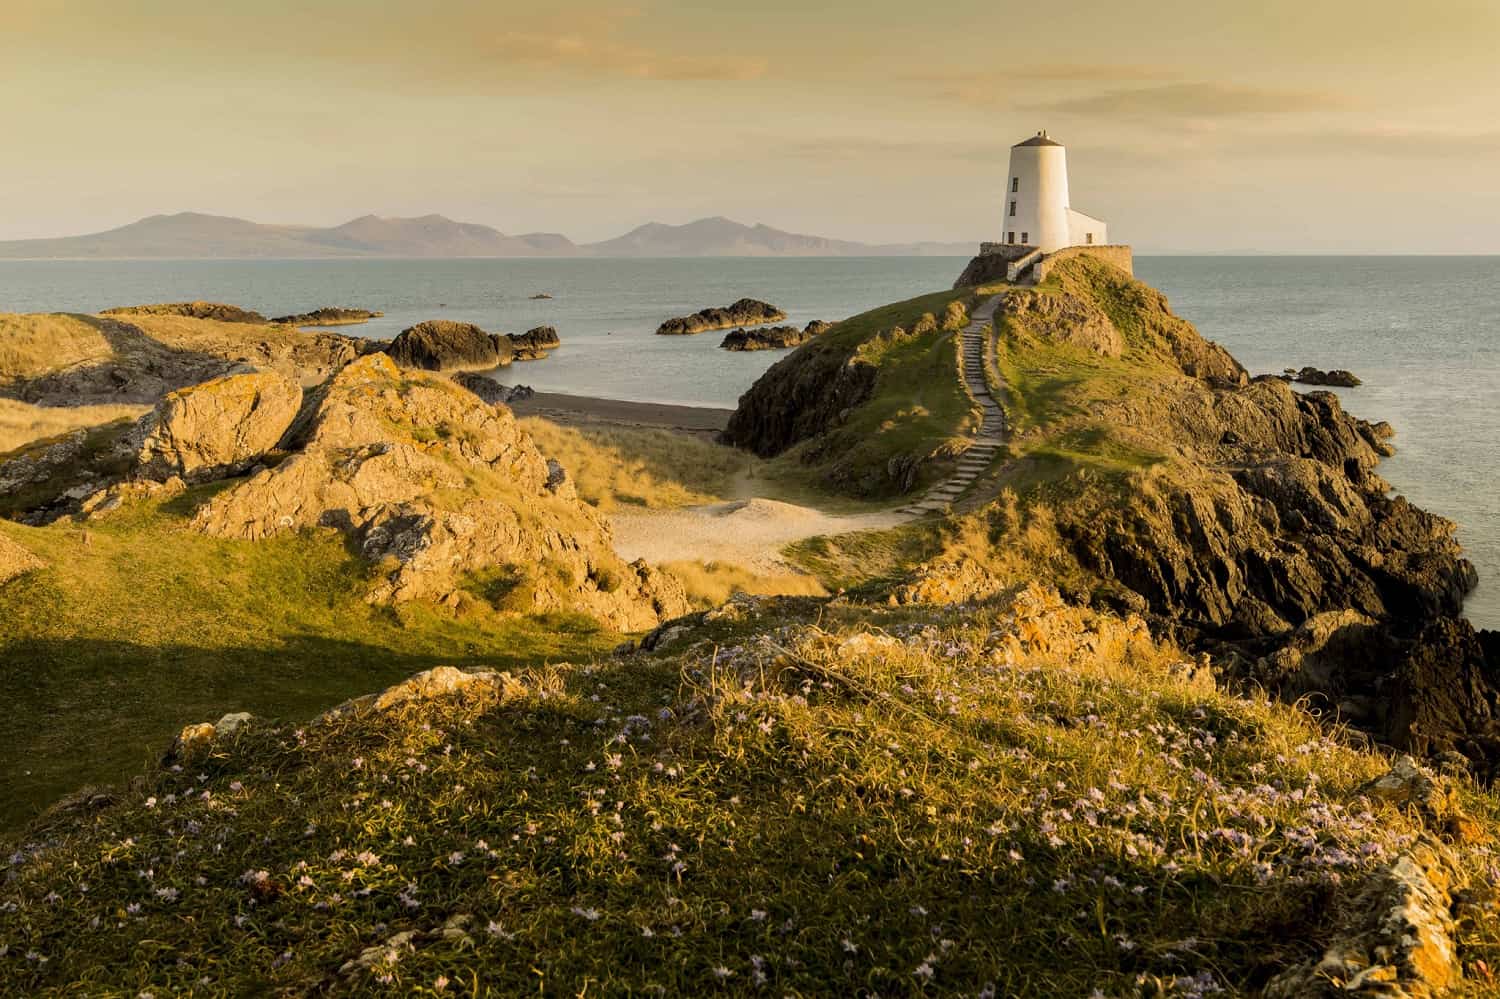
[[[210,538],[184,530],[190,506],[147,504],[87,528],[0,522],[50,564],[0,590],[12,699],[0,828],[140,771],[190,722],[308,718],[434,664],[514,666],[618,642],[586,618],[522,618],[482,600],[372,606],[369,568],[336,531]]]

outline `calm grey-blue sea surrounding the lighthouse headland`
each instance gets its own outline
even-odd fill
[[[386,318],[350,333],[388,338],[448,318],[519,333],[555,326],[562,348],[507,372],[538,390],[734,405],[778,352],[730,354],[718,334],[656,326],[742,296],[789,321],[838,320],[945,288],[963,261],[460,260],[0,261],[0,310],[96,312],[207,298],[267,315],[324,304]],[[1500,628],[1500,258],[1158,256],[1138,276],[1254,372],[1317,364],[1365,380],[1344,404],[1396,428],[1382,471],[1419,506],[1460,524],[1479,567],[1468,604]],[[549,300],[531,296],[546,292]]]

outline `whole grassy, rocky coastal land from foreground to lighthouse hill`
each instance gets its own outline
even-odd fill
[[[504,350],[465,324],[0,316],[16,405],[146,410],[0,456],[9,663],[75,705],[15,688],[0,974],[646,990],[712,942],[808,993],[1108,994],[1192,936],[1227,990],[1318,994],[1328,954],[1456,981],[1500,834],[1473,568],[1389,495],[1389,428],[1250,378],[1108,256],[850,316],[724,444],[518,420],[442,374]],[[774,588],[616,550],[768,526]]]

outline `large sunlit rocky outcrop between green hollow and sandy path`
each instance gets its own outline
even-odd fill
[[[579,610],[640,630],[687,610],[681,585],[624,564],[508,410],[374,354],[321,393],[294,453],[218,494],[194,526],[260,538],[334,526],[376,567],[369,598]],[[484,579],[483,585],[476,579]]]

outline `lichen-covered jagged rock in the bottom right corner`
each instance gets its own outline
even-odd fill
[[[1454,862],[1419,842],[1366,879],[1322,960],[1276,975],[1268,999],[1436,999],[1462,980],[1454,940]]]

